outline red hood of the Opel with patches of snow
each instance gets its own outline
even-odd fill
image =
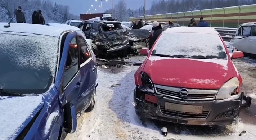
[[[145,71],[154,84],[193,89],[219,89],[233,77],[232,62],[150,56]]]

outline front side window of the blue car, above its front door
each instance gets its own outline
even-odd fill
[[[64,70],[63,84],[66,86],[78,71],[78,49],[76,38],[69,44],[69,52]]]

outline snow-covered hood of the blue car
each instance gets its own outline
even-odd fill
[[[43,96],[0,96],[0,140],[12,140],[44,105]]]

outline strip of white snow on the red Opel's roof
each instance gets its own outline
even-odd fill
[[[168,28],[163,31],[165,33],[210,33],[218,34],[218,32],[212,27],[180,27],[180,28]]]

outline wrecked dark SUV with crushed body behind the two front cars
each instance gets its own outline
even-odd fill
[[[130,46],[134,46],[133,42],[143,42],[147,39],[148,31],[136,31],[138,35],[134,35],[126,31],[117,21],[84,21],[80,28],[86,35],[87,39],[93,40],[92,49],[95,55],[100,54],[121,54],[125,55]],[[135,32],[135,33],[136,33]],[[125,54],[124,54],[125,53]]]

